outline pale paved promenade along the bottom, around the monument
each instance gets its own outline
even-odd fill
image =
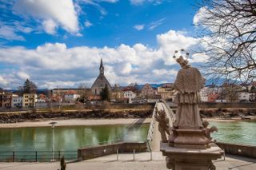
[[[85,160],[66,165],[66,170],[166,170],[165,157],[161,152],[153,152],[153,160],[150,160],[150,152],[137,153],[135,160],[133,154],[120,154],[119,160],[116,155],[102,156],[93,160]],[[241,156],[226,156],[226,160],[214,161],[218,170],[252,170],[256,169],[256,160]],[[57,170],[56,163],[0,163],[0,170]]]

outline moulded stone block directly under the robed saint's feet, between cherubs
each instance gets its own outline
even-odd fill
[[[210,148],[210,140],[202,129],[172,129],[169,145],[175,148]]]

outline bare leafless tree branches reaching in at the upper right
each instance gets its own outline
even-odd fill
[[[194,24],[209,56],[206,75],[254,81],[256,77],[256,1],[202,0]]]

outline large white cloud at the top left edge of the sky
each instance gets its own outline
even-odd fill
[[[54,33],[58,26],[71,34],[79,31],[78,16],[72,0],[18,0],[14,4],[14,12],[42,21],[46,33]]]

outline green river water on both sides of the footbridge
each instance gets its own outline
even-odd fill
[[[219,142],[256,146],[256,122],[210,121],[210,125],[218,127],[218,132],[214,132],[212,136]],[[148,128],[149,124],[70,127],[57,125],[54,128],[54,151],[72,151],[73,156],[70,156],[70,159],[74,159],[77,156],[77,149],[85,146],[110,144],[117,140],[146,141]],[[15,151],[15,159],[35,160],[34,152],[38,151],[38,156],[41,156],[39,159],[45,156],[45,160],[50,160],[51,149],[52,129],[50,127],[0,128],[0,160],[11,160],[13,151]],[[18,153],[17,151],[30,152]],[[48,153],[42,153],[42,151],[48,151]],[[67,153],[63,152],[63,154]],[[58,152],[55,153],[56,155]]]

